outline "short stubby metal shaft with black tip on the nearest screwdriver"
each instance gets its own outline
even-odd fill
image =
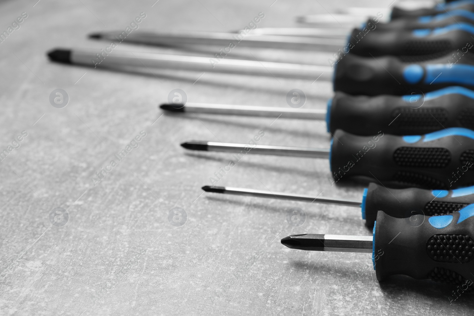
[[[285,237],[282,244],[301,250],[372,253],[373,239],[373,236],[304,234]]]

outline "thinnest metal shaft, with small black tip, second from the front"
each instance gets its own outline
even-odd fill
[[[234,195],[246,195],[252,197],[259,197],[259,198],[271,198],[271,199],[289,199],[293,201],[304,201],[310,203],[325,203],[325,204],[338,204],[338,205],[345,205],[345,206],[352,206],[352,207],[360,207],[362,201],[354,201],[354,200],[347,200],[347,199],[334,199],[334,198],[320,198],[311,197],[308,195],[297,195],[291,193],[282,193],[282,192],[271,192],[271,191],[263,191],[263,190],[253,190],[253,189],[244,189],[244,188],[232,188],[232,187],[211,187],[211,186],[204,186],[202,190],[207,192],[215,192],[215,193],[224,193],[224,194],[234,194]]]

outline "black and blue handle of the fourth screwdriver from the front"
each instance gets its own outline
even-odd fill
[[[328,101],[328,130],[356,135],[425,134],[443,127],[474,129],[474,91],[454,86],[402,97],[352,96],[336,92]]]

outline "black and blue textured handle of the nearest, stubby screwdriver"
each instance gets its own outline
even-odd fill
[[[452,215],[416,215],[411,221],[379,212],[373,257],[377,280],[403,274],[415,279],[432,279],[463,286],[464,290],[472,289],[472,216],[472,204]]]

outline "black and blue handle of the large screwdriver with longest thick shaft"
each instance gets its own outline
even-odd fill
[[[430,55],[409,59],[346,54],[336,64],[334,90],[375,96],[426,93],[453,85],[474,89],[474,54],[467,51],[458,59],[452,54],[457,56],[459,52],[449,52],[437,58]]]

